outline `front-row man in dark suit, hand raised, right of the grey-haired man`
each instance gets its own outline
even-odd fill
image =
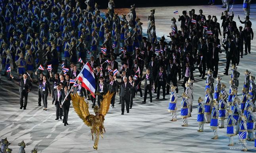
[[[141,77],[141,75],[139,75],[139,77]],[[149,92],[149,96],[150,96],[150,103],[152,103],[152,85],[154,83],[154,77],[150,73],[149,69],[146,69],[146,74],[141,78],[141,81],[143,81],[145,78],[146,78],[146,80],[144,83],[144,101],[142,103],[146,103],[146,98],[147,98],[148,92]]]

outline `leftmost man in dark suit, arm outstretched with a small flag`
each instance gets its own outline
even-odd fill
[[[10,77],[14,78],[12,75],[10,75]],[[27,78],[27,74],[23,74],[23,78],[21,78],[20,80],[17,78],[14,78],[14,80],[20,81],[20,83],[19,83],[19,94],[20,94],[19,104],[21,107],[19,107],[19,109],[23,108],[25,110],[27,107],[27,96],[32,88],[31,81]],[[23,98],[25,98],[24,105],[23,105]]]

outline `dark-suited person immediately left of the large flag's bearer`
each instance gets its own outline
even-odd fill
[[[56,86],[57,90],[54,93],[54,97],[52,99],[52,105],[55,102],[55,107],[56,107],[56,119],[55,120],[59,120],[62,119],[62,112],[60,111],[60,105],[62,105],[62,90],[60,85],[58,84]]]

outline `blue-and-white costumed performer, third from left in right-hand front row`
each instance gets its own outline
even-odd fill
[[[197,123],[199,130],[197,132],[204,132],[204,105],[202,104],[203,99],[198,98],[198,107],[197,107]]]

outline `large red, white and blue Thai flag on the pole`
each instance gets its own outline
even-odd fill
[[[90,67],[88,62],[84,65],[78,80],[82,82],[82,87],[89,90],[92,97],[95,98],[94,92],[96,89],[96,82],[92,67]]]

